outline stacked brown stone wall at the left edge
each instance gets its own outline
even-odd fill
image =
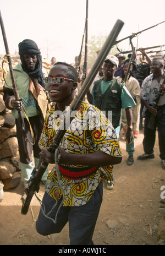
[[[0,94],[0,182],[3,189],[15,188],[21,179],[15,119]]]

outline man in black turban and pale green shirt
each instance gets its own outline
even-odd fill
[[[4,83],[3,86],[3,99],[5,106],[9,110],[12,110],[12,115],[15,118],[15,124],[17,127],[20,167],[24,186],[26,182],[29,181],[31,172],[34,169],[34,165],[32,164],[32,159],[29,160],[26,155],[26,146],[19,124],[18,110],[23,110],[23,107],[25,109],[26,116],[23,111],[23,117],[25,122],[26,138],[29,139],[31,143],[33,139],[35,140],[34,145],[29,143],[29,149],[31,155],[33,151],[35,166],[37,167],[40,153],[38,140],[42,132],[48,104],[45,82],[43,80],[43,78],[47,76],[47,73],[46,70],[42,69],[42,57],[40,53],[41,52],[38,49],[38,46],[32,40],[25,39],[23,42],[19,43],[19,55],[21,63],[13,67],[13,72],[19,93],[19,99],[21,99],[21,101],[15,100],[10,73],[7,74],[6,83]],[[45,110],[43,110],[41,105],[42,107],[45,105]],[[34,133],[34,138],[32,138],[32,134],[30,132],[30,126]],[[47,175],[48,170],[42,177],[43,181],[46,181]]]

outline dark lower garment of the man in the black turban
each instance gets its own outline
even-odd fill
[[[42,116],[38,115],[35,117],[29,117],[29,122],[27,121],[26,118],[24,118],[24,122],[25,122],[26,137],[31,142],[32,142],[32,137],[31,137],[29,122],[31,124],[31,128],[34,133],[35,145],[32,145],[28,142],[30,153],[32,154],[32,151],[33,151],[34,157],[40,158],[39,153],[41,150],[38,146],[38,141],[40,139],[40,135],[41,135],[41,132],[43,129],[43,118],[42,118]],[[29,164],[30,161],[27,159],[27,156],[26,156],[25,141],[23,138],[23,133],[21,131],[18,119],[15,119],[15,124],[17,127],[17,139],[18,139],[20,162],[22,162],[23,164]]]

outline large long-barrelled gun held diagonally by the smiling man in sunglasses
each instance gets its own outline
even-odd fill
[[[107,40],[104,43],[100,53],[98,54],[97,59],[90,70],[90,73],[87,75],[87,77],[83,83],[83,86],[81,87],[80,91],[78,92],[78,95],[75,96],[75,98],[72,102],[72,105],[70,106],[70,113],[72,111],[79,110],[79,107],[81,106],[81,102],[83,101],[87,90],[89,90],[90,85],[92,84],[92,81],[95,79],[97,72],[100,70],[103,61],[105,60],[109,51],[111,50],[112,46],[114,45],[114,42],[115,42],[120,30],[122,29],[123,25],[124,25],[123,21],[117,20],[111,33],[107,37]],[[74,117],[70,117],[70,123],[72,122],[73,119],[74,119]],[[64,129],[58,130],[56,137],[53,139],[53,143],[50,145],[50,148],[48,148],[49,152],[54,152],[58,148],[59,143],[61,142],[66,130],[69,128],[69,125],[70,124],[68,124],[67,127],[65,126],[65,119],[64,119]],[[47,166],[48,166],[48,163],[42,161],[41,166],[38,168],[38,171],[36,171],[34,178],[32,178],[32,181],[30,181],[30,186],[29,186],[29,189],[27,190],[27,197],[26,197],[25,201],[23,202],[23,206],[21,208],[21,214],[24,214],[24,215],[27,214],[27,211],[29,210],[30,201],[40,184],[41,178],[42,178],[43,173],[45,172]]]

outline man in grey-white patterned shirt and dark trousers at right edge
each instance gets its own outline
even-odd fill
[[[138,156],[138,160],[153,159],[155,157],[153,148],[157,128],[160,158],[162,160],[162,168],[165,169],[165,72],[163,59],[152,59],[150,68],[151,74],[145,78],[141,86],[141,100],[144,104],[142,114],[145,116],[144,140],[142,141],[144,154]],[[156,107],[155,102],[157,99],[159,100]],[[151,115],[155,116],[153,127],[149,126]]]

